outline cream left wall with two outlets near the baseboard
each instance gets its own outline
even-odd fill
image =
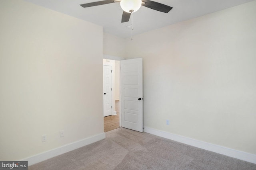
[[[0,160],[104,133],[102,27],[22,0],[0,23]]]

